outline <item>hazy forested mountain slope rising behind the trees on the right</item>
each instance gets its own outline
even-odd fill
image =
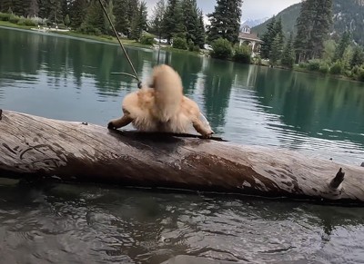
[[[301,4],[291,5],[278,15],[282,17],[283,32],[288,36],[291,32],[296,33],[296,19],[299,15]],[[268,19],[263,24],[252,28],[252,32],[258,35],[267,30]],[[364,0],[333,0],[333,37],[338,37],[346,30],[350,30],[356,43],[364,45]]]

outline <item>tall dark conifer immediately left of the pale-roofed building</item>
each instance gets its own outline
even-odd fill
[[[211,23],[207,30],[209,41],[221,37],[231,43],[238,43],[241,4],[241,0],[217,0],[215,11],[207,15]]]

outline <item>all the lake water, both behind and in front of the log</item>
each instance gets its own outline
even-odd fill
[[[364,161],[364,83],[127,51],[143,80],[171,64],[224,139]],[[1,109],[106,125],[137,89],[119,72],[131,70],[117,45],[0,28]],[[0,263],[364,263],[363,236],[360,208],[0,180]]]

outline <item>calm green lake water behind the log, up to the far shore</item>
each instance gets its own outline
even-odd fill
[[[227,140],[362,162],[361,83],[186,53],[127,53],[143,81],[158,60],[176,68],[187,96]],[[106,124],[136,90],[136,80],[115,74],[132,71],[113,44],[0,29],[0,58],[0,104],[15,111]]]

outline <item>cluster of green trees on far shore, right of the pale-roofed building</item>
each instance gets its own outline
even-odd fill
[[[363,47],[353,41],[349,30],[337,41],[332,38],[332,9],[332,0],[303,1],[296,22],[297,34],[289,37],[282,33],[281,17],[273,17],[261,37],[261,57],[271,65],[291,68],[297,63],[308,71],[364,81]]]

